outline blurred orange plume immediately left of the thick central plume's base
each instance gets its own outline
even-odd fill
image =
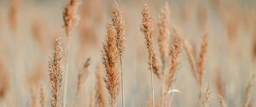
[[[97,103],[98,107],[106,107],[107,102],[106,102],[106,96],[104,94],[104,80],[102,76],[102,67],[99,65],[97,66],[97,72],[96,72],[96,78],[97,78]]]

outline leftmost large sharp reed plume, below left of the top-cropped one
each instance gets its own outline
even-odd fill
[[[53,59],[49,61],[49,82],[52,87],[51,95],[51,107],[60,106],[59,101],[61,97],[61,85],[62,85],[62,47],[61,37],[58,37],[55,41],[55,53],[53,53]]]

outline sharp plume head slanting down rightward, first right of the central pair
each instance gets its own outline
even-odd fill
[[[152,65],[154,74],[161,80],[162,73],[154,53],[153,25],[147,4],[143,7],[142,15],[143,25],[141,26],[141,31],[146,39],[146,45],[148,48],[148,63],[149,65]]]

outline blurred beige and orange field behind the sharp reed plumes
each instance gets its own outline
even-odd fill
[[[80,0],[79,22],[73,31],[67,82],[67,106],[88,106],[95,92],[96,65],[102,64],[102,42],[110,21],[112,0]],[[157,23],[165,3],[171,11],[171,24],[192,44],[195,58],[201,51],[202,37],[209,33],[204,89],[212,90],[210,104],[219,106],[222,94],[230,107],[242,106],[246,87],[256,73],[256,1],[255,0],[116,0],[125,20],[124,82],[127,107],[147,106],[150,92],[148,53],[143,34],[142,8],[148,3],[154,23],[154,48],[158,52]],[[62,11],[68,0],[0,0],[0,106],[30,107],[44,88],[49,105],[49,57],[56,37],[65,38]],[[174,40],[173,29],[171,41]],[[63,39],[64,40],[64,39]],[[63,42],[65,44],[65,42]],[[171,44],[172,42],[170,42]],[[90,73],[76,99],[79,70],[90,58]],[[160,57],[159,57],[160,59]],[[154,77],[156,78],[156,77]],[[155,94],[160,82],[154,79]],[[196,106],[198,89],[191,74],[188,56],[179,56],[173,93],[175,107]],[[251,107],[256,107],[253,86]],[[109,97],[107,90],[105,90]],[[121,106],[121,94],[118,105]]]

